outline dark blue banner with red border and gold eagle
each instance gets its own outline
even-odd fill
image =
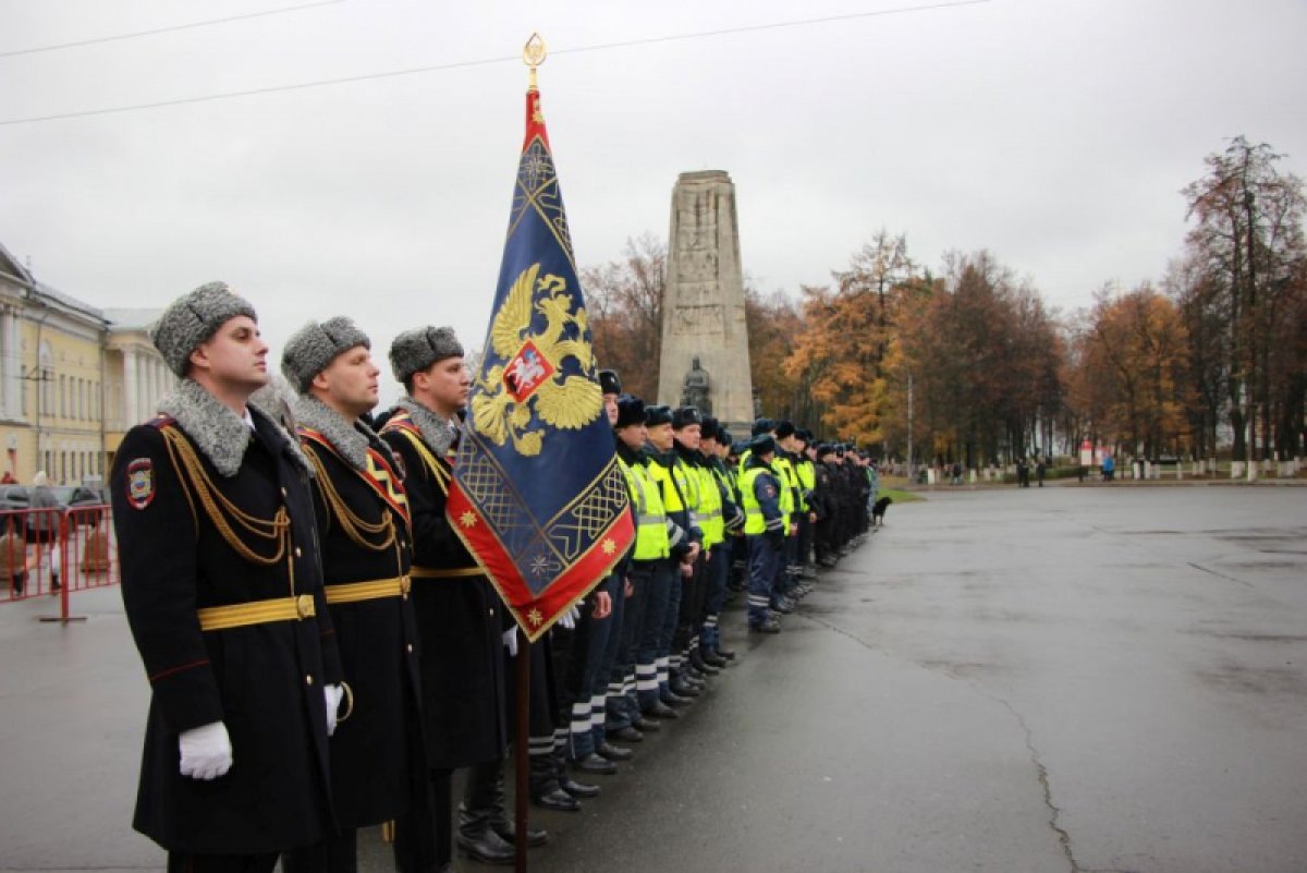
[[[635,536],[535,84],[446,511],[531,640]]]

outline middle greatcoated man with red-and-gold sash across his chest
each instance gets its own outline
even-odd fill
[[[357,829],[426,809],[417,622],[409,600],[412,535],[399,463],[361,416],[376,405],[371,344],[348,318],[310,321],[286,344],[281,371],[315,469],[314,501],[327,604],[345,674],[331,740],[341,832],[282,861],[286,873],[354,873]],[[404,866],[420,866],[409,859]]]

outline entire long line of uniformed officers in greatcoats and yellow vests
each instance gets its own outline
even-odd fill
[[[532,660],[531,797],[578,810],[600,793],[588,774],[617,772],[736,659],[731,591],[749,631],[778,633],[876,499],[851,447],[767,420],[733,442],[600,371],[635,541],[519,651],[446,519],[471,388],[452,331],[396,337],[405,393],[375,417],[380,370],[348,318],[290,337],[281,409],[251,401],[268,346],[226,285],[178,298],[152,338],[179,387],[124,438],[111,490],[152,686],[133,825],[170,872],[356,870],[372,825],[392,826],[400,870],[448,870],[455,846],[511,864],[519,839],[548,840],[505,809],[514,659]]]

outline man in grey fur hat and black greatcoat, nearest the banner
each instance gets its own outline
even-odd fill
[[[451,776],[471,767],[471,813],[459,847],[489,863],[511,863],[512,846],[491,829],[495,785],[508,742],[506,638],[516,626],[499,595],[444,515],[459,413],[472,379],[450,328],[416,328],[391,345],[405,396],[380,434],[404,467],[413,518],[413,606],[422,638],[422,706],[435,810],[435,855],[452,859]],[[397,839],[408,839],[400,825]],[[421,836],[410,832],[410,836]]]

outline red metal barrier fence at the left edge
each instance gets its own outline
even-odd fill
[[[0,602],[59,595],[68,621],[71,592],[118,582],[107,504],[0,511]]]

